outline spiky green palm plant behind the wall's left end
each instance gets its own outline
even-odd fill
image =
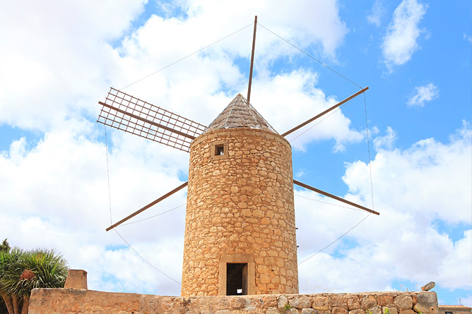
[[[35,288],[64,287],[69,268],[62,255],[54,250],[13,248],[4,255],[3,268],[0,260],[0,291],[7,295],[4,300],[8,313],[19,314],[20,308],[22,314],[28,313],[31,291]],[[8,307],[8,296],[13,311]]]

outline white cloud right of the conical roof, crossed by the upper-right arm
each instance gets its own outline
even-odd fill
[[[273,78],[257,79],[254,81],[257,93],[251,97],[251,102],[279,133],[284,133],[341,100],[326,96],[316,87],[317,79],[316,73],[305,70],[283,73]],[[325,123],[320,121],[322,119],[310,125],[319,123],[316,128],[309,129],[310,126],[307,126],[287,135],[290,145],[304,150],[305,145],[312,140],[333,138],[336,140],[334,150],[338,151],[343,150],[346,143],[364,139],[360,131],[350,128],[350,119],[344,116],[342,111],[333,111]]]

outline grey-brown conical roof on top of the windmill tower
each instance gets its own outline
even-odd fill
[[[217,128],[259,128],[277,133],[241,94],[232,99],[228,107],[210,123],[205,132]]]

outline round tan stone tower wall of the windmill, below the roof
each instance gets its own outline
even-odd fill
[[[215,145],[225,147],[224,155],[215,155]],[[182,296],[225,294],[225,262],[249,263],[248,294],[297,293],[296,246],[287,140],[249,128],[196,138],[190,149]]]

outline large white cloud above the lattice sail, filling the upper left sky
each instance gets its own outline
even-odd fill
[[[285,1],[182,1],[187,18],[151,16],[141,28],[129,32],[144,2],[58,5],[42,1],[28,4],[28,9],[24,3],[6,5],[0,13],[0,27],[6,30],[1,40],[8,47],[0,52],[0,122],[48,131],[73,114],[95,116],[97,101],[110,85],[119,88],[143,78],[252,23],[255,13],[266,27],[301,47],[319,47],[326,58],[335,58],[336,48],[348,32],[336,1],[305,1],[300,4],[303,10]],[[231,12],[232,18],[225,12]],[[118,41],[126,33],[129,35]],[[249,27],[126,91],[194,118],[210,115],[201,120],[211,121],[228,99],[245,90],[242,85],[247,78],[233,60],[249,57],[251,39]],[[116,48],[110,47],[112,41]],[[293,47],[259,28],[258,63],[295,53]],[[228,95],[222,94],[223,89],[229,90]],[[194,107],[189,109],[191,104]],[[216,111],[199,110],[199,104],[214,106]]]

